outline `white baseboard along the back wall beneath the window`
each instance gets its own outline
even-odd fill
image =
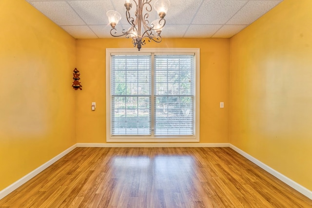
[[[77,147],[229,147],[229,143],[77,143]]]

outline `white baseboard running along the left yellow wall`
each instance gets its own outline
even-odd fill
[[[48,166],[51,166],[53,163],[57,162],[60,158],[64,157],[66,154],[68,154],[70,151],[72,151],[76,147],[77,147],[77,144],[69,147],[65,151],[61,152],[59,155],[55,156],[54,158],[52,158],[51,160],[49,160],[48,162],[46,162],[42,166],[39,166],[38,168],[34,169],[33,171],[31,171],[30,173],[28,173],[24,177],[20,178],[18,181],[14,182],[10,186],[4,188],[3,190],[0,190],[0,200],[2,198],[4,198],[5,196],[7,196],[12,191],[14,191],[15,189],[17,189],[18,187],[20,187],[21,185],[23,185],[24,183],[26,183],[27,181],[29,181],[30,179],[32,179],[33,177],[35,177],[36,175],[38,175],[45,168],[47,168]]]

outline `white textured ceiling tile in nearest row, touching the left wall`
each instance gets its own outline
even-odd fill
[[[32,5],[59,25],[83,25],[84,21],[65,1],[32,1]]]

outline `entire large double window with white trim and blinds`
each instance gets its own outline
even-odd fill
[[[107,142],[199,141],[199,49],[106,49],[106,60]]]

